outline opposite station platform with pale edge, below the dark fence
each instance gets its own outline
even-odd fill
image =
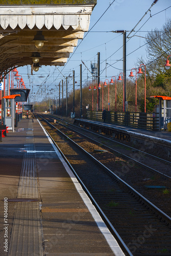
[[[167,159],[171,157],[171,132],[149,131],[83,118],[75,118],[74,124],[87,128],[92,132],[110,135],[119,141],[132,142],[133,145],[138,145],[142,151],[144,151],[144,148],[149,152],[157,149],[158,152],[160,151],[159,155],[162,152],[163,157]]]

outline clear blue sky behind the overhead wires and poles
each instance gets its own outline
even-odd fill
[[[91,69],[91,61],[97,63],[98,52],[100,52],[100,80],[104,81],[105,78],[111,79],[114,75],[118,76],[119,73],[122,72],[122,60],[120,59],[123,56],[123,35],[109,31],[131,31],[145,12],[151,7],[154,0],[115,0],[110,6],[112,2],[113,0],[97,0],[97,5],[90,19],[90,32],[84,33],[84,39],[78,41],[79,46],[76,51],[74,50],[74,54],[70,54],[69,61],[65,67],[55,68],[42,66],[38,72],[34,72],[34,75],[30,76],[30,79],[28,79],[28,74],[30,74],[31,67],[18,68],[19,74],[22,75],[26,87],[30,89],[33,88],[33,92],[36,94],[39,88],[37,85],[41,85],[46,80],[46,87],[55,89],[61,79],[64,79],[65,76],[69,76],[70,74],[72,75],[73,70],[75,70],[75,80],[79,83],[81,60]],[[109,6],[110,8],[105,12]],[[145,39],[142,38],[145,37],[147,33],[145,31],[162,28],[166,20],[171,16],[170,6],[170,0],[158,0],[151,8],[151,12],[148,12],[136,27],[135,31],[141,28],[140,31],[136,33],[137,36],[133,36],[135,34],[133,32],[130,35],[133,37],[126,40],[127,75],[130,74],[129,70],[135,68],[137,58],[146,58],[146,47],[143,46]],[[166,8],[167,10],[165,10]],[[101,17],[101,15],[103,16]],[[100,17],[101,19],[97,22]],[[126,32],[126,35],[129,33],[130,32]],[[119,48],[121,49],[119,50]],[[134,50],[136,51],[132,53]],[[106,63],[108,64],[106,65]],[[82,71],[83,84],[86,83],[87,80],[91,81],[91,74],[83,64]],[[43,77],[40,78],[39,76]],[[72,78],[69,84],[69,90],[72,90]],[[54,90],[50,96],[53,97],[56,93],[57,92]],[[38,97],[36,97],[36,99],[41,100],[41,95],[39,93],[37,95]]]

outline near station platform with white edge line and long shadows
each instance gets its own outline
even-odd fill
[[[3,138],[0,166],[1,255],[124,255],[37,119]]]

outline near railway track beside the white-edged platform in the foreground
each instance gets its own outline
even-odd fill
[[[95,148],[94,145],[93,152],[96,153],[92,154],[89,142],[90,152],[86,152],[77,145],[78,142],[81,145],[87,144],[85,139],[69,130],[66,136],[56,130],[56,127],[48,126],[47,120],[41,119],[41,121],[70,162],[79,179],[87,187],[94,203],[97,202],[98,206],[96,207],[100,208],[101,214],[110,221],[111,231],[115,233],[115,236],[119,234],[117,240],[125,254],[163,255],[164,252],[165,255],[170,255],[170,217],[93,156],[94,154],[101,155],[100,152],[106,153],[102,148],[99,149],[99,146]],[[87,146],[84,145],[84,147]],[[98,152],[98,150],[100,151]],[[109,152],[107,153],[109,154]],[[116,161],[117,157],[115,156],[113,160]],[[163,179],[168,182],[169,178],[164,176]],[[126,252],[126,247],[131,252],[129,250]]]

